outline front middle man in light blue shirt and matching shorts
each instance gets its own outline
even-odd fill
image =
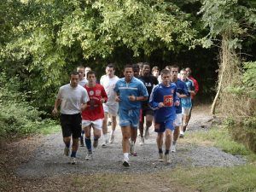
[[[123,166],[130,166],[129,150],[131,155],[135,154],[134,144],[137,138],[141,102],[148,99],[148,91],[142,81],[134,78],[131,65],[125,66],[124,76],[125,78],[116,82],[113,90],[116,93],[115,101],[119,102],[119,125],[123,135]]]

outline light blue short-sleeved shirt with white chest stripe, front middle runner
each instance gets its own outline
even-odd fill
[[[113,90],[120,96],[119,108],[125,110],[141,108],[141,102],[131,102],[129,96],[148,96],[143,82],[134,77],[129,83],[125,81],[125,78],[119,79]]]

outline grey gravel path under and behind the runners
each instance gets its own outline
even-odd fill
[[[211,119],[206,110],[195,108],[189,122],[189,131],[207,131]],[[72,173],[159,172],[175,166],[234,166],[246,163],[241,157],[226,154],[218,148],[177,143],[177,153],[172,154],[172,164],[166,166],[158,161],[155,137],[156,134],[151,129],[150,137],[143,146],[136,143],[138,155],[131,157],[131,167],[125,168],[121,166],[123,154],[119,126],[114,143],[108,148],[101,147],[102,138],[100,139],[93,160],[85,160],[86,148],[79,147],[77,165],[68,164],[69,159],[63,156],[61,133],[52,134],[42,139],[42,144],[33,152],[32,157],[18,167],[17,174],[23,178],[43,178]]]

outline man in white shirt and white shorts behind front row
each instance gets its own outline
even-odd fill
[[[102,132],[104,142],[102,143],[102,148],[106,148],[108,146],[108,114],[110,114],[112,118],[112,131],[110,132],[109,143],[113,143],[114,131],[116,127],[116,116],[119,111],[119,103],[115,101],[115,93],[113,91],[113,88],[119,78],[114,75],[114,71],[115,69],[113,64],[108,64],[106,67],[106,75],[103,75],[100,80],[100,83],[103,85],[108,95],[108,102],[103,103],[104,119],[102,124]]]

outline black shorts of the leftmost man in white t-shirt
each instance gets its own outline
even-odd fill
[[[61,130],[63,137],[79,138],[81,136],[81,114],[62,114],[61,113]]]

